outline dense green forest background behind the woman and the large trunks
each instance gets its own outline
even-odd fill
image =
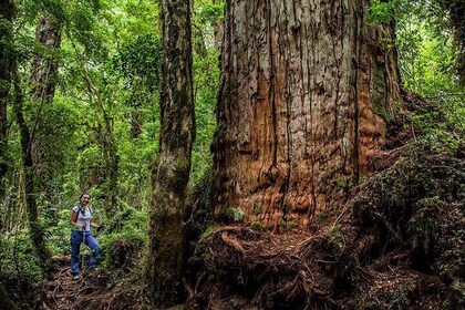
[[[146,272],[152,177],[159,163],[158,1],[0,3],[0,282],[20,308],[45,304],[51,258],[70,252],[70,213],[82,192],[91,194],[94,217],[105,225],[97,239],[107,288],[136,282]],[[224,6],[223,0],[192,3],[193,205],[199,193],[210,190],[214,177],[210,145],[217,131]],[[372,1],[369,10],[373,27],[395,24],[394,38],[382,44],[396,48],[402,90],[424,103],[405,115],[409,138],[415,147],[428,145],[459,162],[465,133],[464,13],[461,1],[442,0]],[[458,173],[463,178],[463,170]],[[193,255],[198,239],[220,224],[213,209],[187,210],[194,231],[187,248]],[[228,209],[220,221],[240,223],[241,216]],[[456,216],[463,223],[462,214]],[[462,280],[457,290],[463,298]],[[145,292],[143,286],[133,290],[138,290],[131,292],[136,296]],[[406,297],[396,296],[392,304],[404,304],[401,298]]]

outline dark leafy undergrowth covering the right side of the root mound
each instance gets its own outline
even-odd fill
[[[402,161],[373,177],[354,200],[361,229],[375,229],[372,259],[400,242],[411,246],[413,266],[436,275],[458,275],[465,238],[463,161],[436,143],[421,140]],[[438,251],[437,249],[441,249]]]

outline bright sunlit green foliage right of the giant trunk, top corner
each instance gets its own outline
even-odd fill
[[[369,22],[376,25],[395,21],[395,46],[404,87],[422,95],[440,91],[464,93],[463,85],[457,83],[464,66],[462,2],[372,1]]]

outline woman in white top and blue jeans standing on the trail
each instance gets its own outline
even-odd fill
[[[81,244],[84,242],[92,250],[89,269],[94,269],[99,264],[100,246],[95,238],[92,236],[91,227],[99,228],[100,226],[92,223],[92,208],[89,206],[91,195],[87,193],[81,194],[78,206],[74,206],[71,213],[71,275],[74,279],[79,277],[79,254]]]

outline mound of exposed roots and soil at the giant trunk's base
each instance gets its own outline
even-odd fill
[[[214,230],[187,308],[463,309],[464,163],[415,147],[313,235]]]

